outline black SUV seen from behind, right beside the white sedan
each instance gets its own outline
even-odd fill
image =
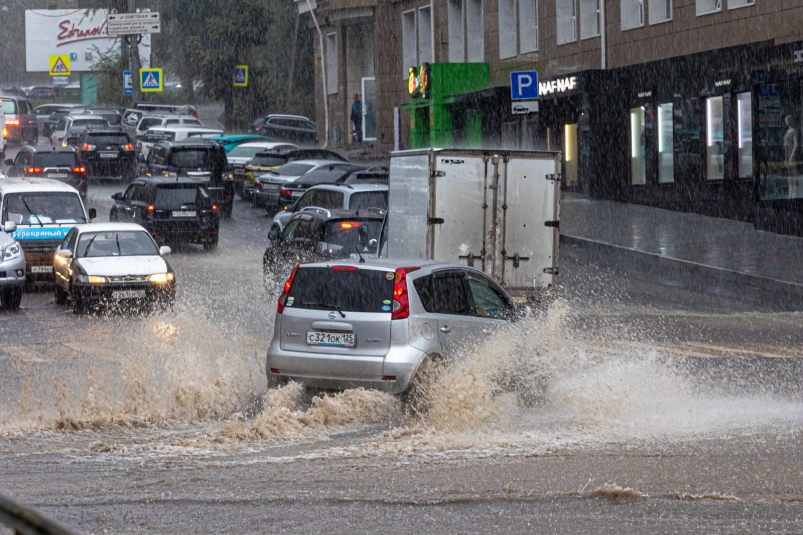
[[[157,243],[199,243],[217,247],[218,206],[197,180],[138,178],[125,193],[112,195],[110,221],[142,225]]]

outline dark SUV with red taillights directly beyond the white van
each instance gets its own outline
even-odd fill
[[[86,167],[72,147],[23,145],[5,164],[9,166],[8,176],[52,178],[77,189],[81,200],[86,201]]]

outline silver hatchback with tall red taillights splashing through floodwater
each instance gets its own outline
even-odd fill
[[[429,260],[299,264],[279,298],[269,385],[407,391],[419,367],[450,358],[521,307],[476,269]]]

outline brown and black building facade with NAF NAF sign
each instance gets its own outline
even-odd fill
[[[408,148],[426,117],[409,68],[483,63],[487,87],[430,115],[453,146],[559,150],[564,189],[803,235],[801,2],[329,0],[316,14],[340,60],[332,127],[368,78],[365,138]],[[512,112],[520,70],[539,74],[536,113]]]

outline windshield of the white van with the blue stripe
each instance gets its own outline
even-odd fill
[[[4,223],[14,221],[18,225],[47,225],[86,222],[77,193],[9,193],[3,200]]]

